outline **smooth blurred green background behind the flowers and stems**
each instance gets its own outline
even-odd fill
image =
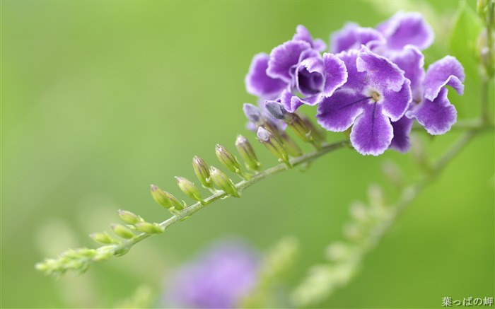
[[[475,2],[468,5],[474,7]],[[305,173],[291,170],[242,199],[212,204],[124,257],[55,280],[34,264],[96,245],[117,209],[149,221],[168,215],[154,183],[180,198],[174,175],[193,178],[192,156],[216,164],[214,145],[246,132],[244,76],[252,56],[289,40],[296,25],[327,41],[347,21],[374,26],[396,10],[425,14],[436,31],[426,64],[448,49],[457,1],[2,1],[1,306],[118,306],[139,286],[159,297],[177,264],[211,241],[238,235],[264,251],[284,235],[301,241],[295,284],[342,238],[348,205],[394,161],[409,181],[411,154],[378,158],[340,150]],[[474,60],[460,117],[479,110]],[[464,57],[464,58],[462,58]],[[493,89],[491,89],[493,101]],[[493,103],[491,103],[493,110]],[[303,112],[314,114],[313,108]],[[433,158],[458,132],[420,134]],[[339,134],[329,134],[337,140]],[[260,146],[264,167],[276,161]],[[205,192],[206,193],[206,192]],[[393,194],[392,194],[393,196]],[[494,134],[479,136],[405,211],[349,286],[324,308],[438,308],[441,298],[494,296]]]

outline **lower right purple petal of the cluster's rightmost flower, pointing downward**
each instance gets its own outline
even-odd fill
[[[412,110],[406,112],[406,117],[416,118],[431,135],[448,132],[457,121],[458,112],[447,98],[447,88],[442,88],[435,100],[425,99]]]

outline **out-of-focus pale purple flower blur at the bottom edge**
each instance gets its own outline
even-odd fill
[[[236,308],[257,280],[254,252],[238,242],[213,245],[170,277],[164,303],[171,308]]]

